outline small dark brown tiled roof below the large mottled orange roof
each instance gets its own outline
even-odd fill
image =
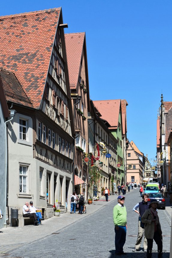
[[[32,101],[27,97],[14,73],[0,67],[0,78],[7,101],[33,108]]]

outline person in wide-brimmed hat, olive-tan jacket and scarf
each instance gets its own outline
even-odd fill
[[[158,201],[156,199],[152,199],[149,204],[149,209],[143,213],[141,218],[141,221],[145,223],[144,234],[147,239],[147,258],[152,257],[153,239],[155,240],[155,243],[158,247],[158,258],[162,257],[162,231],[157,207]]]

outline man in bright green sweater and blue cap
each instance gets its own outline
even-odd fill
[[[127,232],[127,211],[124,206],[125,197],[118,196],[118,204],[113,208],[113,222],[115,224],[115,254],[126,254],[123,251]]]

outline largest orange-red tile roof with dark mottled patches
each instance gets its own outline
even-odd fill
[[[39,108],[61,8],[0,17],[0,66]]]

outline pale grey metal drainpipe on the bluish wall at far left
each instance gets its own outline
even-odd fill
[[[4,227],[7,227],[7,220],[6,219],[6,206],[7,206],[7,123],[13,120],[13,117],[5,122],[5,211],[4,211]]]

